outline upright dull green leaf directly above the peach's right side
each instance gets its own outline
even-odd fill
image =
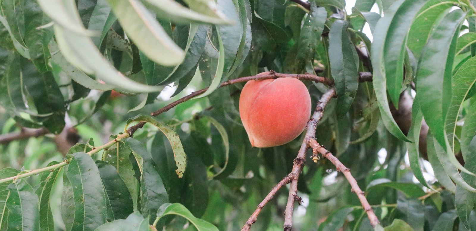
[[[304,19],[298,41],[297,56],[305,62],[312,60],[316,54],[322,31],[327,20],[327,11],[311,3],[311,11]],[[338,32],[338,31],[336,31]],[[335,35],[338,36],[338,35]]]

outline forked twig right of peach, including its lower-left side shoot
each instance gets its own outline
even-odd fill
[[[258,215],[261,212],[261,209],[274,197],[274,195],[278,192],[280,188],[282,188],[284,185],[287,185],[289,182],[296,182],[297,186],[297,177],[301,174],[302,167],[304,166],[305,163],[305,158],[306,158],[306,151],[307,151],[307,139],[309,137],[316,137],[316,126],[319,120],[322,118],[322,112],[324,111],[324,107],[326,106],[327,102],[335,96],[335,89],[332,88],[328,92],[324,93],[319,100],[319,102],[316,105],[316,110],[314,111],[311,120],[307,122],[307,131],[306,131],[306,137],[303,140],[303,143],[301,145],[301,148],[299,149],[299,152],[297,154],[297,157],[294,159],[294,165],[293,165],[293,170],[285,176],[279,183],[278,185],[274,186],[271,192],[268,193],[268,195],[263,199],[261,203],[259,203],[258,208],[255,210],[253,214],[248,218],[248,221],[245,223],[243,228],[241,228],[241,231],[249,231],[251,228],[251,225],[253,225],[256,220],[258,219]],[[294,188],[296,188],[296,191],[293,191]],[[286,206],[286,212],[285,212],[285,230],[286,230],[286,225],[291,225],[292,227],[292,221],[291,222],[286,222],[289,218],[288,216],[292,219],[292,210],[294,208],[294,202],[299,199],[297,197],[297,187],[291,185],[291,189],[289,191],[289,196],[291,197],[290,200],[288,199],[288,205]],[[290,204],[292,203],[292,205]],[[291,209],[289,209],[289,208]]]

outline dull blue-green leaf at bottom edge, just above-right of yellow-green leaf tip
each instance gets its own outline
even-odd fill
[[[414,231],[423,231],[425,225],[425,205],[417,198],[397,201],[397,210],[403,213],[406,221]]]

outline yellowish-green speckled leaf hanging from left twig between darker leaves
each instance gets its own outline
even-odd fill
[[[133,204],[137,204],[139,197],[139,181],[134,176],[133,165],[129,160],[131,150],[124,141],[119,141],[116,145],[108,148],[102,156],[102,161],[109,163],[116,168],[122,181],[129,189]]]

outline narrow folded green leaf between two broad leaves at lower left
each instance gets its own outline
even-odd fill
[[[53,161],[48,166],[59,164],[57,161]],[[52,172],[44,172],[41,174],[41,185],[36,190],[40,202],[40,230],[53,231],[54,221],[53,214],[51,213],[50,195],[53,185],[61,178],[60,172],[62,167],[54,169]]]

